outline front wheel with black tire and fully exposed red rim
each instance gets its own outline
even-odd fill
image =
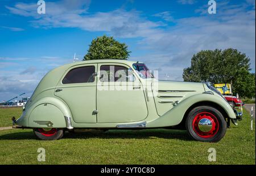
[[[202,119],[210,120],[210,124],[212,125],[209,126],[204,124],[204,127],[210,128],[210,131],[208,131],[209,129],[203,129],[208,132],[200,130],[202,126],[200,126],[199,121]],[[223,115],[216,108],[210,106],[199,106],[193,108],[189,112],[185,122],[185,127],[188,135],[193,139],[197,141],[216,143],[224,137],[227,125]]]

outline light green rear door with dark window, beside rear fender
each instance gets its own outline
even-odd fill
[[[97,64],[70,68],[55,89],[55,95],[71,109],[76,123],[96,123],[96,69]]]

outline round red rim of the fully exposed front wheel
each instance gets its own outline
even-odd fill
[[[208,122],[210,121],[212,125],[211,127],[208,126],[208,128],[210,128],[209,131],[202,131],[200,129],[200,120],[206,120]],[[193,119],[192,126],[193,131],[198,136],[203,138],[210,138],[215,136],[216,133],[218,132],[218,128],[220,127],[220,125],[218,124],[218,119],[216,118],[215,115],[211,114],[210,112],[200,112],[199,114],[197,114]]]

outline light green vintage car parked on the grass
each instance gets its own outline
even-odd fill
[[[141,62],[92,60],[60,66],[44,76],[16,128],[56,140],[76,129],[187,129],[195,140],[224,137],[238,117],[207,83],[158,81]],[[117,134],[118,135],[118,134]]]

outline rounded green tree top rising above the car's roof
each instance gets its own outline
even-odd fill
[[[113,37],[101,36],[92,40],[84,60],[123,59],[127,60],[130,51],[125,43],[119,43]]]

